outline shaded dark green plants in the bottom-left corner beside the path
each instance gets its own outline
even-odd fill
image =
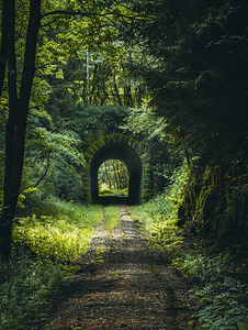
[[[50,262],[13,256],[0,261],[0,329],[35,329],[59,294],[66,275]]]

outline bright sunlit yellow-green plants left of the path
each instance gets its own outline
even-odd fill
[[[34,253],[63,263],[72,262],[87,251],[92,226],[103,218],[99,207],[59,200],[37,208],[36,212],[37,216],[18,219],[12,233],[14,245],[27,245]]]

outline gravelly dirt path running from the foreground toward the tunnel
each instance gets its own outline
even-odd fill
[[[78,263],[81,272],[43,329],[188,329],[195,301],[187,284],[125,210],[112,234],[97,228]]]

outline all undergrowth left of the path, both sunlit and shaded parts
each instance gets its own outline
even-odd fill
[[[101,206],[50,199],[15,219],[10,262],[0,261],[0,330],[38,329],[88,249]],[[29,211],[27,208],[25,210]]]

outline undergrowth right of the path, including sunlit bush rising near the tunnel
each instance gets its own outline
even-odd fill
[[[131,209],[131,216],[142,221],[140,230],[157,249],[167,251],[171,265],[191,283],[191,294],[198,297],[200,308],[189,329],[247,330],[248,286],[237,276],[234,257],[229,251],[217,253],[203,248],[206,242],[192,244],[184,235],[185,228],[177,224],[185,179],[185,170],[181,176],[180,169],[174,172],[171,186]],[[240,272],[248,272],[245,258],[240,267]]]

